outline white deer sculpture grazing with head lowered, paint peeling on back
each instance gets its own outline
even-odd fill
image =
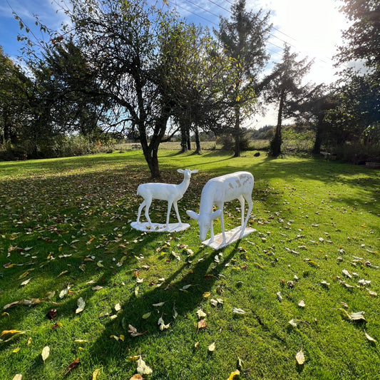
[[[222,225],[222,245],[225,245],[225,221],[223,217],[223,206],[229,200],[238,199],[242,209],[242,230],[240,232],[240,239],[243,237],[245,227],[247,227],[248,218],[252,212],[252,189],[254,185],[254,178],[248,172],[236,172],[220,177],[212,178],[209,180],[200,195],[200,210],[199,214],[194,211],[186,211],[192,218],[197,220],[200,231],[200,240],[205,240],[208,230],[211,230],[210,243],[214,242],[214,230],[212,221],[220,217]],[[248,203],[247,216],[244,218],[245,200]],[[212,212],[212,206],[217,205],[218,210]]]

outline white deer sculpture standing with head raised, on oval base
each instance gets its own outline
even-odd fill
[[[177,202],[180,200],[185,191],[188,190],[192,173],[198,173],[198,170],[178,169],[178,173],[183,173],[183,181],[179,185],[173,183],[143,183],[138,186],[137,195],[144,198],[140,207],[138,207],[137,222],[140,222],[140,215],[145,206],[145,217],[148,220],[149,226],[152,227],[152,222],[149,217],[149,207],[153,199],[168,201],[168,214],[166,215],[166,228],[169,226],[170,210],[174,205],[175,213],[177,214],[178,222],[182,225],[180,214],[178,212]]]

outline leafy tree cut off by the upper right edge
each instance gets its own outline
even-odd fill
[[[329,117],[341,129],[344,140],[368,138],[380,130],[380,3],[378,0],[344,0],[341,11],[351,21],[343,32],[344,46],[339,47],[337,66],[361,63],[364,68],[345,68],[335,88],[339,105]]]

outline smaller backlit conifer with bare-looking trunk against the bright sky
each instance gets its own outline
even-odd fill
[[[297,61],[297,56],[297,53],[290,53],[289,45],[285,44],[282,61],[274,65],[274,72],[279,73],[279,76],[274,77],[265,96],[266,101],[278,105],[276,131],[269,147],[272,157],[281,154],[282,120],[296,115],[299,105],[312,91],[309,83],[302,85],[312,61],[307,62],[307,57]]]

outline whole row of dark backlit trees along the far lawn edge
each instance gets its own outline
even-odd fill
[[[63,9],[68,26],[49,31],[39,24],[49,34],[46,43],[38,41],[41,54],[32,38],[20,38],[28,43],[28,75],[0,50],[3,148],[22,141],[38,156],[54,136],[99,138],[117,131],[140,141],[152,178],[159,178],[159,145],[178,131],[183,151],[190,148],[190,132],[195,135],[198,153],[200,131],[230,133],[238,157],[242,123],[257,113],[259,98],[277,106],[274,157],[287,118],[314,128],[314,153],[322,144],[358,136],[369,141],[379,130],[378,1],[345,1],[342,11],[354,22],[338,63],[361,59],[367,71],[348,69],[332,88],[302,84],[312,62],[298,59],[289,46],[262,76],[269,14],[247,11],[245,0],[233,4],[231,19],[221,18],[213,34],[143,1],[70,3]]]

